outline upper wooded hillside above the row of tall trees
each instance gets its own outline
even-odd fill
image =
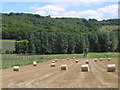
[[[102,26],[118,25],[118,19],[97,21],[84,18],[51,18],[25,13],[3,14],[3,38],[26,37],[27,32],[36,31],[95,31]],[[109,29],[108,29],[109,30]],[[24,36],[21,35],[24,33]]]

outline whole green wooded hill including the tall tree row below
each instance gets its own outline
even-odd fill
[[[2,38],[23,40],[16,44],[16,53],[119,51],[118,21],[9,13],[3,14]]]

